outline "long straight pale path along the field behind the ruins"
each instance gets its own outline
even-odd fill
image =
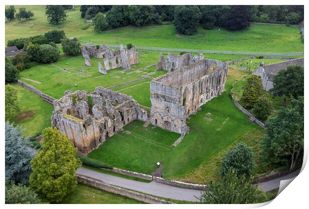
[[[85,42],[83,45],[103,45],[102,43],[92,43],[85,40],[79,40]],[[119,45],[104,44],[107,47],[119,48]],[[260,56],[303,56],[304,52],[240,52],[240,51],[216,51],[216,50],[197,50],[197,49],[176,49],[176,48],[159,48],[148,46],[135,46],[136,49],[155,50],[155,51],[168,51],[168,52],[192,52],[192,53],[207,53],[207,54],[238,54],[238,55],[260,55]]]

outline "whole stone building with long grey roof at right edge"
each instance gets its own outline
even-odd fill
[[[300,65],[304,67],[304,57],[298,59],[291,59],[285,62],[279,62],[271,65],[261,64],[252,74],[261,76],[263,88],[266,92],[269,92],[274,88],[273,80],[274,76],[279,73],[280,70],[287,69],[291,65]]]

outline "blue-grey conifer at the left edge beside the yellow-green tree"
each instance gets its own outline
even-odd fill
[[[29,138],[22,136],[23,130],[5,122],[5,178],[26,184],[31,173],[31,152]]]

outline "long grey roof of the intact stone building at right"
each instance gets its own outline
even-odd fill
[[[291,65],[301,65],[304,66],[304,57],[298,59],[291,59],[285,62],[279,62],[276,64],[264,66],[264,71],[268,77],[268,80],[273,81],[274,76],[279,73],[280,70],[287,69]]]

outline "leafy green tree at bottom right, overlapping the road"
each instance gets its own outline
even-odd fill
[[[237,172],[229,169],[216,182],[211,182],[198,198],[204,204],[251,204],[257,202],[258,189],[252,185],[253,177],[237,177]]]

